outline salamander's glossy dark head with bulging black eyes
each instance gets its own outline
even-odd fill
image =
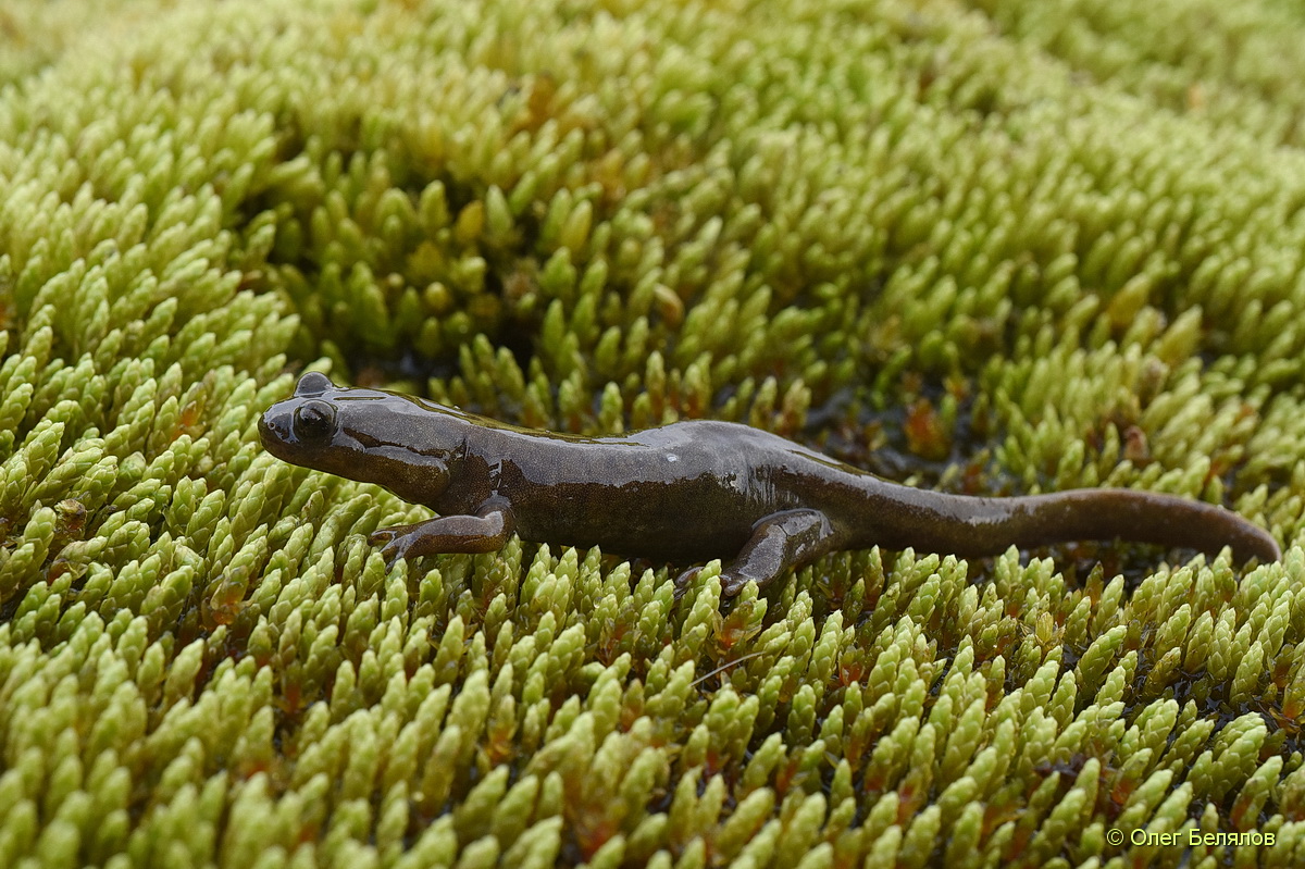
[[[435,404],[375,389],[335,386],[321,373],[258,420],[262,446],[279,459],[351,480],[378,483],[431,504],[465,449],[462,424]]]

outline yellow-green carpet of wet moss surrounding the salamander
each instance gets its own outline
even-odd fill
[[[1301,44],[1272,0],[5,4],[0,866],[1305,864]],[[304,365],[1287,556],[388,572],[420,509],[257,444]]]

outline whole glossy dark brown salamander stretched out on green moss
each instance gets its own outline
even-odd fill
[[[1276,561],[1278,543],[1219,506],[1131,489],[966,497],[889,483],[737,423],[621,437],[529,431],[432,402],[342,389],[324,374],[258,421],[294,465],[377,483],[441,515],[381,528],[388,561],[522,540],[679,564],[722,558],[722,588],[766,586],[838,549],[984,556],[1015,545],[1134,540]],[[680,575],[683,590],[697,568]]]

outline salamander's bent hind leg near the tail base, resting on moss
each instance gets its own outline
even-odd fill
[[[720,591],[732,598],[749,582],[758,588],[778,579],[788,568],[801,568],[835,549],[834,528],[820,510],[786,510],[757,522],[739,556],[720,572]],[[681,596],[702,568],[692,568],[675,581]]]

